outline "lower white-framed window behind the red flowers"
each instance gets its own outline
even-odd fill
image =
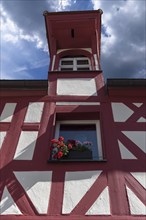
[[[91,160],[102,160],[101,134],[99,120],[64,120],[57,121],[55,138],[63,136],[65,142],[76,141],[87,145],[92,152]],[[70,151],[71,152],[71,151]],[[79,155],[83,155],[80,153]],[[74,159],[70,157],[69,159]],[[78,158],[78,159],[82,159]]]

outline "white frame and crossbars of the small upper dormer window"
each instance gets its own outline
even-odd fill
[[[88,60],[88,64],[77,64],[78,60]],[[63,65],[62,61],[72,61],[72,65]],[[89,68],[91,70],[91,62],[88,57],[70,57],[70,58],[61,58],[59,63],[59,71],[61,68],[67,69],[72,68],[72,71],[78,71],[78,68]]]

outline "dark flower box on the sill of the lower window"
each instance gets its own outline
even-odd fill
[[[92,159],[92,151],[74,151],[71,150],[67,159]]]

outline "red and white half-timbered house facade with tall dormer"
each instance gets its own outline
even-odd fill
[[[44,12],[48,80],[0,82],[1,220],[146,218],[146,80],[104,82],[101,15]]]

